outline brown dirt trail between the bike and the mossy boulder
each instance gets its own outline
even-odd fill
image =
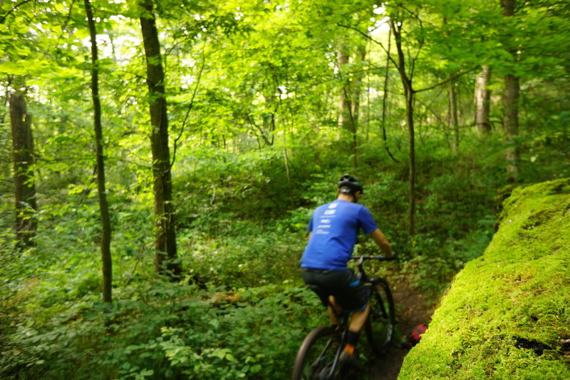
[[[374,362],[371,371],[373,380],[398,378],[404,357],[410,351],[398,340],[405,339],[418,324],[427,326],[435,309],[434,302],[430,302],[422,294],[415,292],[405,280],[390,284],[390,288],[394,297],[397,328],[401,332],[401,337],[400,334],[396,335],[397,340],[388,354]]]

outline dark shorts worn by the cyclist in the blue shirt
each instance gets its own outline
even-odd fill
[[[324,306],[328,305],[328,296],[333,296],[344,312],[358,312],[366,309],[370,291],[365,287],[352,269],[310,269],[303,268],[301,276],[308,285],[318,285],[316,294]]]

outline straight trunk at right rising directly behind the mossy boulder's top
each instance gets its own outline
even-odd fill
[[[503,16],[514,16],[515,0],[501,0]],[[507,50],[513,56],[513,61],[517,62],[517,46],[512,39],[507,41]],[[507,160],[507,179],[516,182],[519,179],[519,148],[517,146],[517,136],[519,135],[519,78],[509,73],[504,76],[504,135],[508,148],[505,150]]]

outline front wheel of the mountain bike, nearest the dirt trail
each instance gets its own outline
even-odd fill
[[[366,337],[374,354],[381,356],[388,351],[394,336],[394,299],[388,281],[371,280],[371,310],[366,319]]]

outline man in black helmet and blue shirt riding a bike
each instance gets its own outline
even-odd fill
[[[345,174],[338,180],[336,200],[317,207],[311,217],[309,242],[301,258],[301,275],[306,284],[323,289],[323,294],[318,294],[323,305],[331,304],[337,312],[352,313],[343,360],[353,357],[370,310],[368,292],[347,267],[359,230],[372,237],[387,257],[392,257],[390,242],[378,229],[370,211],[358,205],[362,193],[361,181],[352,175]],[[328,315],[331,324],[336,325],[330,306]]]

